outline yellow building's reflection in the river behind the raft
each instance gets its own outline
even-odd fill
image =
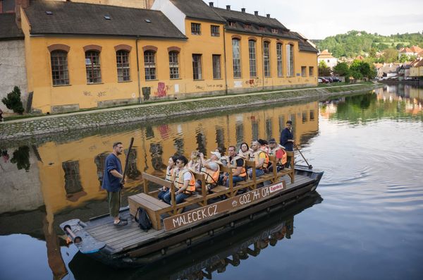
[[[288,119],[293,120],[295,139],[318,130],[318,103],[285,106],[233,115],[216,116],[185,123],[147,126],[130,133],[97,135],[73,142],[48,142],[38,147],[39,180],[48,213],[67,207],[83,205],[90,200],[104,200],[100,188],[104,155],[111,151],[113,142],[127,146],[134,137],[133,166],[130,167],[125,191],[137,192],[140,172],[164,176],[168,157],[173,154],[189,156],[192,150],[209,153],[217,146],[228,148],[254,138],[279,138]],[[125,157],[121,157],[125,162]]]

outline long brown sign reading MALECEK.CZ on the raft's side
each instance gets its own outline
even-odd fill
[[[251,190],[250,192],[244,193],[243,195],[237,195],[235,197],[228,198],[227,200],[216,202],[212,205],[207,205],[185,212],[183,214],[168,217],[163,221],[164,230],[170,231],[172,229],[178,229],[180,226],[187,226],[189,224],[197,223],[198,221],[203,221],[214,217],[217,214],[231,212],[231,210],[236,208],[244,208],[253,205],[259,202],[259,200],[263,200],[265,197],[270,197],[276,193],[279,193],[285,188],[285,181],[281,181],[274,185],[266,185],[263,188]]]

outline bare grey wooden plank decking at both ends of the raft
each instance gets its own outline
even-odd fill
[[[287,189],[294,188],[297,185],[313,181],[305,175],[295,174],[295,183],[290,183],[289,176],[282,177],[286,181]],[[145,232],[138,226],[135,219],[133,219],[129,210],[122,212],[121,215],[128,219],[127,226],[117,227],[113,224],[111,217],[104,217],[94,221],[88,221],[85,231],[90,233],[97,241],[102,241],[113,248],[114,252],[120,252],[124,248],[131,248],[141,243],[147,242],[150,238],[157,238],[162,236],[164,229],[157,231],[150,229]]]

